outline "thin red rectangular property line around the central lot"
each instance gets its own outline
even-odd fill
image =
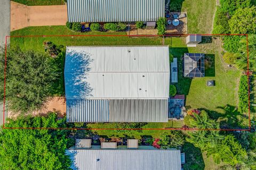
[[[164,35],[163,37],[186,37],[189,35],[202,35],[202,36],[246,36],[246,45],[247,45],[247,78],[249,86],[249,129],[196,129],[196,128],[145,128],[145,129],[116,129],[116,128],[10,128],[4,126],[3,120],[3,129],[41,129],[41,130],[187,130],[187,131],[251,131],[251,119],[250,119],[250,83],[249,83],[249,43],[247,34],[169,34]],[[4,100],[3,100],[3,118],[5,114],[5,86],[6,86],[6,63],[7,63],[7,38],[20,38],[20,37],[161,37],[158,35],[28,35],[28,36],[5,36],[5,67],[4,67]]]

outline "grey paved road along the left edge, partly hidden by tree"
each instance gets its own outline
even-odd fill
[[[0,45],[5,45],[5,36],[10,35],[10,0],[0,0]],[[0,125],[3,124],[3,104],[0,103]]]

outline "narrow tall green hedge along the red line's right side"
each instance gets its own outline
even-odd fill
[[[238,111],[240,113],[247,113],[249,109],[249,96],[248,96],[248,79],[247,75],[242,75],[239,82],[239,89],[238,89]]]

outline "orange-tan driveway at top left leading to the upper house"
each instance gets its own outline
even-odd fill
[[[11,1],[11,31],[30,26],[65,25],[67,20],[67,5],[26,6]]]

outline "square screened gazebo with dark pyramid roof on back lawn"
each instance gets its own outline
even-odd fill
[[[204,77],[204,54],[185,53],[184,54],[184,77],[200,78]]]

